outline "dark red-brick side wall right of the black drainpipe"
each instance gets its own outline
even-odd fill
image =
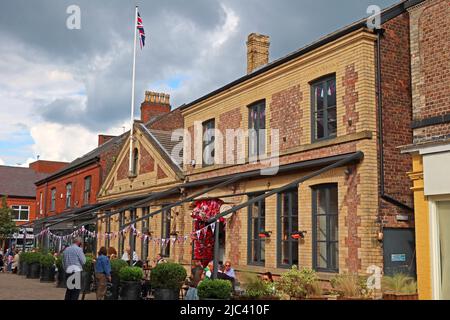
[[[385,193],[412,207],[411,181],[406,175],[412,170],[412,159],[398,149],[412,143],[408,13],[386,22],[383,28],[381,86]],[[380,200],[380,207],[381,213],[391,215],[391,218],[397,213],[407,213],[384,200]]]

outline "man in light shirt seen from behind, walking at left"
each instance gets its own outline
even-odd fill
[[[81,239],[75,238],[73,244],[63,253],[63,267],[66,272],[66,296],[65,300],[78,300],[81,291],[81,271],[86,262]]]

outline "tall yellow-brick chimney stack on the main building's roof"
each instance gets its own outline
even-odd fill
[[[269,36],[250,33],[247,40],[247,74],[269,63]]]

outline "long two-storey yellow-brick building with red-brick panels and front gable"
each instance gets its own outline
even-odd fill
[[[249,35],[248,74],[168,113],[182,124],[164,128],[166,143],[151,147],[148,123],[136,122],[144,174],[127,173],[124,147],[99,198],[149,198],[100,213],[98,242],[123,249],[128,237],[144,256],[207,262],[211,225],[197,230],[191,213],[220,210],[231,214],[216,227],[219,260],[238,272],[297,264],[328,278],[376,265],[414,275],[412,163],[398,150],[412,142],[409,3],[384,10],[381,30],[357,21],[270,63],[269,38]],[[167,143],[178,127],[182,161]]]

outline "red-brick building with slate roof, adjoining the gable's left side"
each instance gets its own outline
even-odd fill
[[[35,234],[50,226],[55,234],[66,234],[77,223],[89,219],[83,213],[99,206],[100,186],[126,137],[99,135],[97,148],[36,182],[35,210],[39,219],[30,224]],[[63,245],[53,243],[49,237],[38,241],[42,246]]]

